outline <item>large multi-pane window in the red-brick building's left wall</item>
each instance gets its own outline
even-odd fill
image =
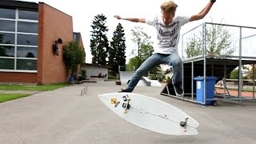
[[[0,8],[0,71],[37,72],[38,12]]]

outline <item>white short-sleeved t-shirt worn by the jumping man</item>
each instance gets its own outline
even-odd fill
[[[146,23],[154,26],[158,34],[158,46],[154,47],[154,53],[172,54],[178,53],[180,30],[183,25],[190,21],[191,17],[177,16],[168,26],[164,25],[160,15],[152,19],[146,19]]]

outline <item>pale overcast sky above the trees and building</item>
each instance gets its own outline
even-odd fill
[[[131,42],[130,30],[134,26],[143,26],[145,32],[149,34],[153,40],[155,38],[155,31],[153,26],[147,24],[140,24],[135,22],[120,21],[114,18],[115,14],[121,17],[134,18],[148,18],[150,15],[155,15],[160,12],[159,6],[166,0],[26,0],[27,2],[45,2],[62,12],[69,14],[73,18],[74,32],[82,34],[82,41],[86,49],[86,62],[91,62],[90,54],[90,31],[94,16],[97,14],[104,14],[106,16],[106,26],[109,31],[107,33],[109,41],[111,41],[112,34],[121,22],[126,33],[126,56],[130,58],[130,51],[136,46]],[[198,14],[209,0],[174,0],[178,4],[176,14],[192,15]],[[181,33],[202,24],[203,22],[225,23],[238,26],[252,26],[256,27],[255,15],[256,10],[255,0],[217,0],[210,12],[205,18],[196,22],[189,22],[182,27]],[[155,42],[154,42],[155,43]],[[181,43],[181,42],[180,42]]]

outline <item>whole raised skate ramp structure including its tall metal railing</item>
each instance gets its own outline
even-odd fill
[[[214,33],[214,31],[219,33]],[[216,82],[220,80],[225,82],[226,78],[230,78],[231,71],[238,68],[237,95],[226,95],[225,86],[224,94],[217,93],[215,90],[214,99],[230,102],[256,100],[254,89],[251,96],[242,95],[242,66],[253,66],[254,71],[255,47],[256,27],[205,22],[182,34],[182,86],[184,89],[182,99],[196,102],[195,77],[216,77]],[[252,83],[255,82],[254,79]],[[206,84],[205,80],[204,84]],[[179,98],[175,96],[171,81],[161,94]],[[206,90],[203,95],[206,99]]]

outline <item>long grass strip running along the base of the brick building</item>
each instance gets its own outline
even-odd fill
[[[0,90],[55,90],[61,87],[70,86],[68,83],[47,84],[47,85],[23,85],[23,84],[0,84]]]

